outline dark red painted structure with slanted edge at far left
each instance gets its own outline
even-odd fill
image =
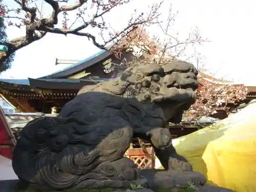
[[[12,150],[15,145],[16,139],[0,107],[0,156],[12,159]]]

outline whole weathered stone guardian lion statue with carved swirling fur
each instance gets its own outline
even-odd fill
[[[196,68],[181,60],[137,63],[121,77],[83,87],[56,117],[28,123],[13,152],[23,182],[47,189],[186,187],[206,179],[176,153],[168,122],[195,102]],[[165,170],[138,170],[123,157],[133,138],[151,142]]]

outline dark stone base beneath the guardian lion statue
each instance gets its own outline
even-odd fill
[[[232,192],[233,190],[206,185],[205,177],[199,172],[178,172],[160,169],[139,170],[141,178],[136,181],[95,181],[87,180],[85,185],[62,190],[65,192]],[[99,184],[100,183],[100,184]],[[82,187],[83,186],[83,187]],[[85,187],[87,186],[87,187]],[[95,187],[94,187],[95,186]],[[104,187],[102,187],[104,186]],[[18,180],[0,181],[1,192],[14,191],[47,191],[44,187],[38,189],[32,185],[26,185]],[[90,188],[90,189],[87,189]],[[97,188],[97,189],[96,189]]]

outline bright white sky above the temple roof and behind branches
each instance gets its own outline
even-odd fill
[[[75,0],[74,0],[75,1]],[[139,2],[139,3],[138,3]],[[133,10],[146,10],[147,6],[157,0],[134,0],[131,3],[113,10],[106,16],[113,26],[125,26]],[[4,0],[9,7],[10,0]],[[254,47],[256,45],[256,1],[252,0],[165,0],[162,17],[167,16],[169,5],[176,16],[174,32],[185,35],[197,26],[200,34],[207,37],[207,42],[197,50],[205,57],[204,66],[217,77],[256,86],[256,65]],[[45,14],[51,9],[44,5]],[[71,20],[73,16],[69,17]],[[112,26],[112,27],[113,27]],[[158,33],[158,28],[154,28]],[[89,32],[95,32],[90,31]],[[24,29],[10,27],[7,29],[9,39],[25,34]],[[67,65],[55,66],[55,59],[85,59],[98,52],[87,37],[75,35],[47,34],[44,38],[16,52],[12,68],[3,72],[0,78],[38,78],[64,68]]]

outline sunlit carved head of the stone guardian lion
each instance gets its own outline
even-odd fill
[[[136,63],[114,82],[116,87],[122,88],[123,97],[136,97],[142,102],[168,105],[173,102],[195,101],[197,74],[197,69],[191,63],[181,60],[174,60],[166,65]]]

